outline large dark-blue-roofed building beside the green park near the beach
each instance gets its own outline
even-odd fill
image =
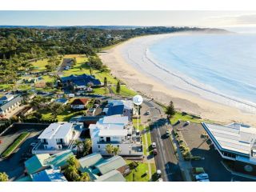
[[[68,77],[61,78],[63,86],[100,86],[101,82],[94,75],[71,74]]]

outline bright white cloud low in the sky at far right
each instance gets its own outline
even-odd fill
[[[205,22],[213,26],[256,26],[256,13],[210,17]]]

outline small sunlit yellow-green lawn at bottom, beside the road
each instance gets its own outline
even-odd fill
[[[126,160],[127,164],[130,164],[130,160]],[[148,174],[146,174],[146,171],[148,173],[149,167],[147,163],[138,162],[138,166],[131,170],[131,173],[126,176],[127,182],[149,182],[150,177]]]

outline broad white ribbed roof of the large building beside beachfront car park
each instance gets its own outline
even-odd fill
[[[202,123],[202,126],[222,150],[250,154],[251,145],[254,144],[256,137],[256,128],[238,123],[228,126]]]

